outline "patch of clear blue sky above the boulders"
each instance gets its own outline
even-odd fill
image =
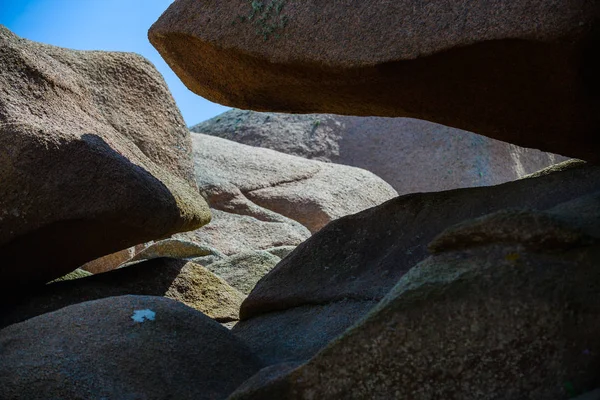
[[[188,126],[229,110],[181,83],[147,38],[172,0],[0,0],[0,24],[37,42],[79,50],[131,51],[149,59]]]

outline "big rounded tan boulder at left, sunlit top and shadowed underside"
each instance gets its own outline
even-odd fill
[[[209,221],[188,131],[147,60],[0,27],[0,71],[0,287]]]

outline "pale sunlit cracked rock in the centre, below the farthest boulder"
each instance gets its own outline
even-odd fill
[[[200,192],[212,208],[222,211],[263,221],[275,220],[272,214],[277,213],[316,232],[336,218],[397,195],[383,180],[359,168],[198,133],[192,140]],[[296,243],[270,247],[284,244]]]

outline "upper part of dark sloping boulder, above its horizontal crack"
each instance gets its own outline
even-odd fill
[[[505,208],[544,210],[600,190],[598,167],[569,161],[552,169],[496,186],[401,196],[340,218],[258,282],[241,318],[342,299],[380,300],[447,227]]]

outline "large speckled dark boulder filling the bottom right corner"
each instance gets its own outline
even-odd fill
[[[597,387],[600,236],[542,214],[496,213],[500,242],[496,218],[472,221],[490,241],[440,249],[306,364],[230,399],[563,400]]]

